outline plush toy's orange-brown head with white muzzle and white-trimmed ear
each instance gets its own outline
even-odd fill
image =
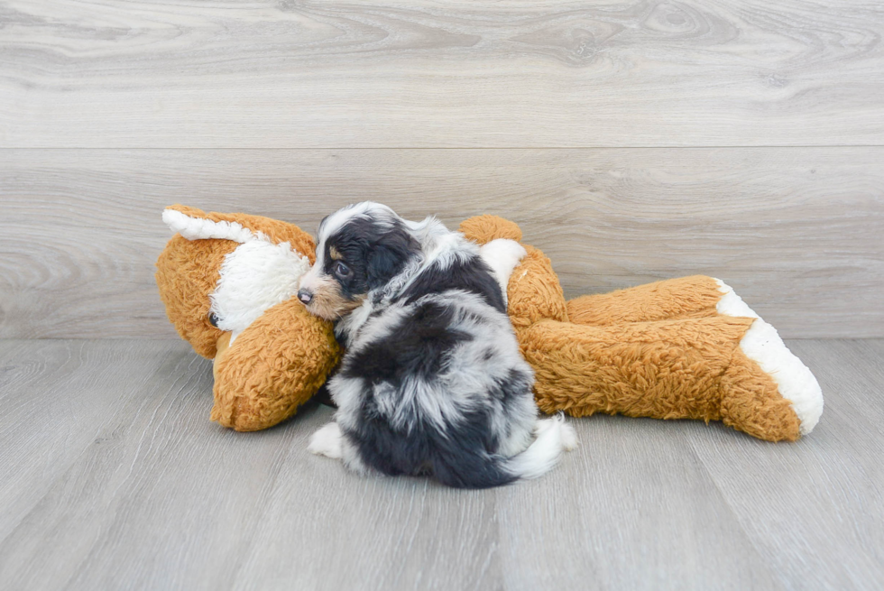
[[[310,235],[268,217],[175,205],[162,219],[177,232],[157,261],[166,313],[209,359],[225,333],[237,336],[265,309],[290,298],[315,256]]]

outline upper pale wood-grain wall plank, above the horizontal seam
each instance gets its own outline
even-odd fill
[[[0,23],[0,147],[884,143],[869,0],[4,0]]]

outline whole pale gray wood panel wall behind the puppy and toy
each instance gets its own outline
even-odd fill
[[[884,337],[884,5],[0,0],[0,337],[173,337],[181,202],[496,213],[568,296]]]

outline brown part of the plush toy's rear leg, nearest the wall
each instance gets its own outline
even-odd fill
[[[724,291],[713,277],[694,275],[625,290],[585,295],[567,302],[568,319],[604,326],[621,322],[715,316]]]

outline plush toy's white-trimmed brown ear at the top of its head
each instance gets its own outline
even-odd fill
[[[263,240],[276,245],[287,242],[293,250],[305,254],[311,264],[315,256],[316,243],[312,236],[294,224],[270,217],[207,213],[198,208],[173,205],[162,212],[162,221],[188,240],[215,238],[240,244]]]

